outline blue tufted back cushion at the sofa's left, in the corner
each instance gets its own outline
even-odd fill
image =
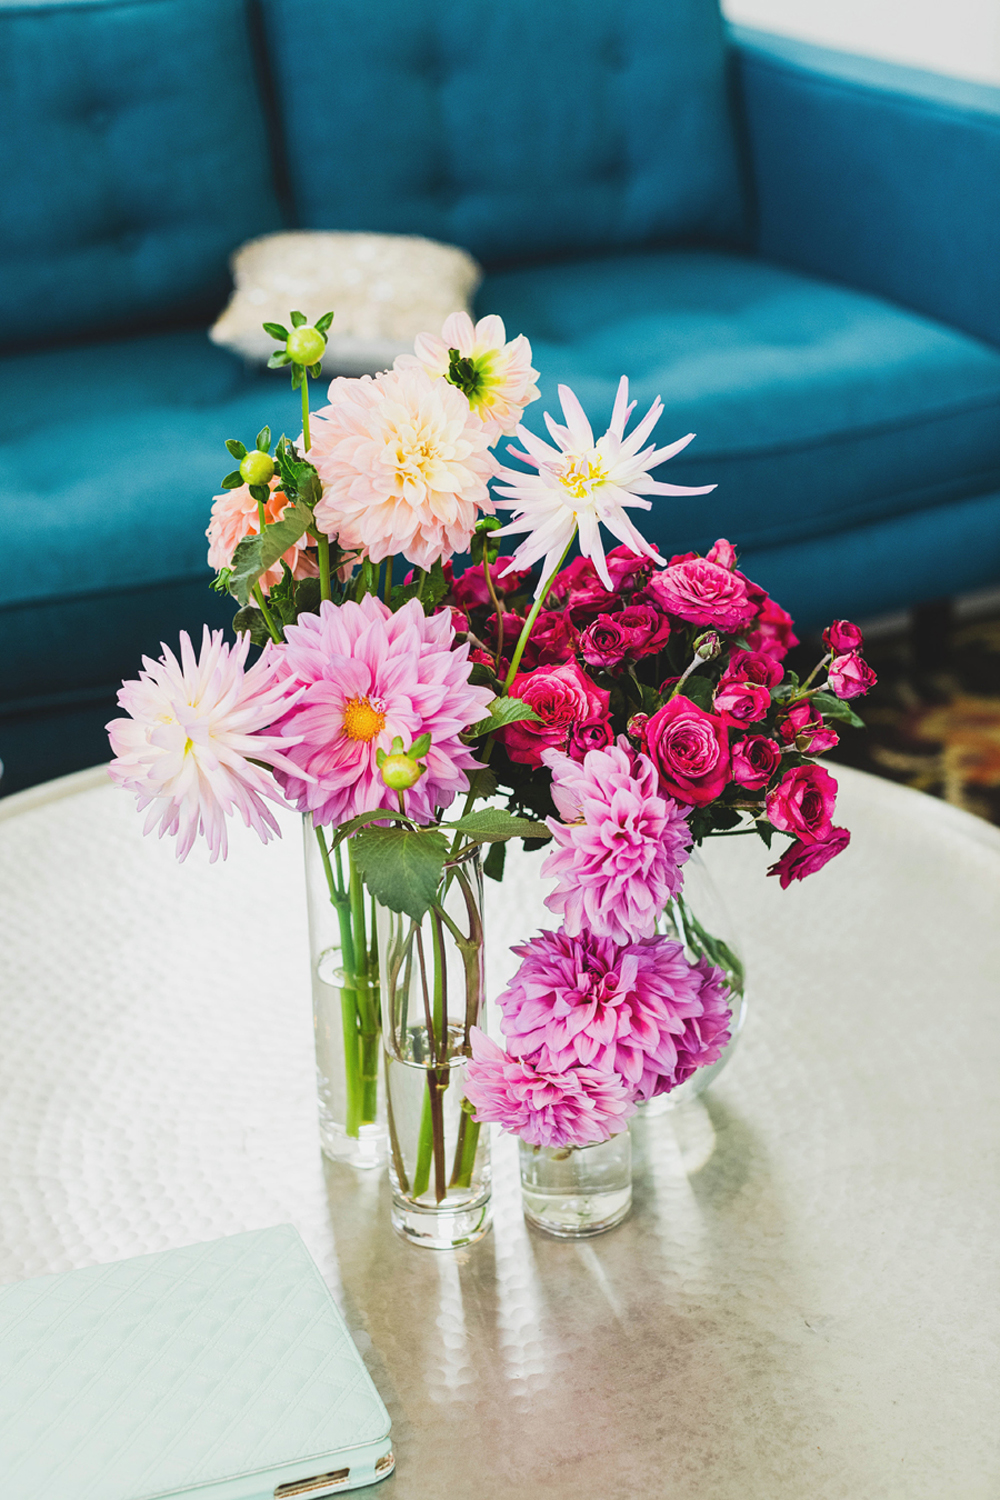
[[[0,345],[211,315],[279,226],[243,0],[0,6]]]

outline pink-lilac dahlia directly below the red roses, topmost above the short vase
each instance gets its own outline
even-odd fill
[[[660,777],[645,754],[621,746],[588,750],[583,762],[543,752],[552,796],[567,819],[547,819],[555,850],[541,867],[558,879],[546,906],[562,914],[567,933],[592,932],[627,944],[651,938],[667,900],[684,884],[691,831],[687,810],[658,795]]]

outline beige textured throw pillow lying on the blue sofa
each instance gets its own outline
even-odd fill
[[[483,272],[465,250],[418,234],[292,230],[247,240],[231,260],[235,290],[208,330],[214,344],[267,360],[277,344],[262,322],[289,327],[292,309],[312,322],[333,309],[324,375],[390,369],[418,333],[438,333],[469,310]]]

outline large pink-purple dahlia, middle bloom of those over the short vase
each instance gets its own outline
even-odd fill
[[[678,1068],[700,1052],[694,1028],[706,1010],[705,976],[673,938],[619,948],[609,938],[571,938],[561,928],[513,951],[522,964],[499,996],[511,1056],[546,1072],[576,1065],[618,1072],[651,1098],[672,1088]]]

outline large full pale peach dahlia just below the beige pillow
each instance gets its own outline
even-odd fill
[[[424,369],[334,380],[312,418],[316,525],[373,562],[402,552],[429,568],[465,552],[493,512],[489,441],[462,392]]]

